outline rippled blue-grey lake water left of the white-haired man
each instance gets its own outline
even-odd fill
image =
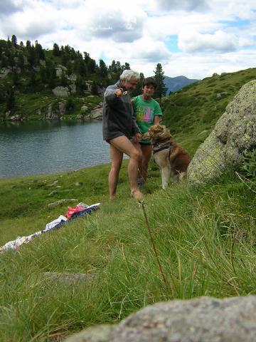
[[[64,172],[110,162],[102,122],[36,121],[0,125],[0,178]]]

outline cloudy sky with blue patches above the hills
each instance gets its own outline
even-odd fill
[[[256,67],[255,0],[1,0],[0,38],[12,34],[145,76],[156,63],[188,78]]]

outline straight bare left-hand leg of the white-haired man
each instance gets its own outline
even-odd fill
[[[108,177],[110,199],[114,199],[117,192],[117,182],[119,171],[122,166],[123,152],[117,150],[116,147],[110,144],[110,158],[111,158],[111,170]]]

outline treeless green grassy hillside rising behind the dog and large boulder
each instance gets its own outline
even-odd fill
[[[256,68],[203,78],[162,99],[164,123],[193,155],[243,84],[256,78]]]

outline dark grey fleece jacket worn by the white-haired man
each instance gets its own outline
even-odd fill
[[[118,81],[113,86],[108,86],[104,93],[102,113],[102,133],[104,140],[125,135],[128,139],[139,133],[136,121],[132,118],[133,107],[129,93],[117,98],[114,92],[123,88]]]

